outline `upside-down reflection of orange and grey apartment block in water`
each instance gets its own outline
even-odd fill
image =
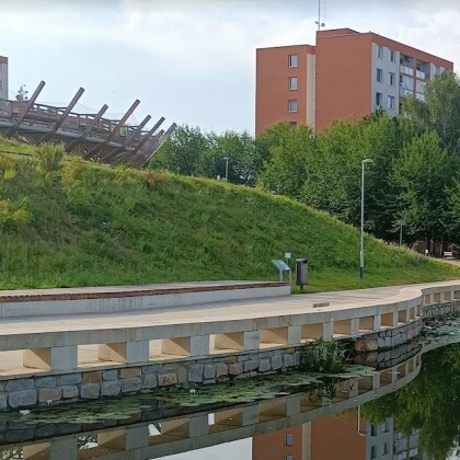
[[[348,412],[300,426],[254,436],[253,460],[403,460],[418,458],[418,432],[405,438],[393,421],[381,425]]]

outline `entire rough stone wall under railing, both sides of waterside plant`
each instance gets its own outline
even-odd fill
[[[426,307],[424,318],[456,312],[460,312],[460,301]],[[398,327],[365,334],[359,338],[342,338],[341,342],[355,341],[354,347],[358,353],[395,349],[403,344],[412,343],[419,334],[422,325],[422,319],[417,319]],[[212,384],[284,372],[300,365],[302,348],[303,346],[299,345],[253,353],[240,352],[204,359],[185,358],[145,366],[3,380],[0,381],[0,410],[135,394],[186,382]],[[391,353],[388,356],[390,361],[399,359]]]

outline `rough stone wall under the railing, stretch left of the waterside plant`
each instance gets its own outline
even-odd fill
[[[185,382],[211,384],[286,371],[300,365],[301,348],[1,381],[0,410],[134,394]]]

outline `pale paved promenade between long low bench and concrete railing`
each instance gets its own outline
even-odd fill
[[[229,283],[230,285],[231,283]],[[209,284],[199,284],[207,286]],[[212,284],[214,285],[214,284]],[[216,283],[221,285],[221,283]],[[220,302],[209,302],[204,304],[192,304],[183,307],[161,308],[152,311],[134,311],[120,313],[103,313],[103,314],[66,314],[60,317],[58,312],[51,317],[41,318],[21,318],[12,320],[3,320],[0,323],[1,335],[15,334],[33,334],[37,332],[64,332],[79,330],[100,330],[100,329],[123,329],[123,327],[142,327],[146,325],[164,325],[164,324],[188,324],[188,323],[208,323],[214,321],[232,321],[248,320],[267,317],[277,317],[279,314],[298,314],[314,313],[320,311],[337,311],[352,309],[357,307],[368,307],[378,304],[382,300],[394,301],[404,300],[405,294],[410,290],[419,290],[421,287],[432,286],[456,286],[458,280],[427,283],[403,286],[379,287],[370,289],[342,290],[331,292],[306,294],[299,296],[285,296],[275,298],[231,300]],[[171,285],[161,285],[166,287]],[[180,285],[172,285],[180,286]],[[191,286],[181,285],[181,286]],[[195,284],[193,286],[196,286]],[[149,289],[151,289],[150,287]],[[78,292],[101,291],[125,291],[127,289],[139,290],[138,287],[115,287],[115,288],[78,288],[69,289]],[[142,287],[147,289],[147,287]],[[409,289],[409,290],[407,290]],[[43,290],[43,292],[61,292],[64,289]],[[66,289],[67,290],[67,289]],[[0,296],[5,291],[0,291]],[[34,294],[34,290],[11,291],[14,295],[27,297]],[[329,302],[327,307],[314,308],[314,303]]]

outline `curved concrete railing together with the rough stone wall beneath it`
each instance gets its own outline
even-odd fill
[[[271,292],[278,289],[266,288]],[[260,287],[251,289],[251,296],[260,291]],[[210,299],[206,292],[200,295]],[[349,299],[348,292],[346,298]],[[186,310],[133,318],[125,313],[119,318],[85,320],[34,319],[27,321],[30,333],[24,333],[23,320],[4,324],[0,350],[23,352],[23,363],[16,363],[20,371],[13,369],[0,376],[0,409],[283,372],[300,365],[302,348],[315,338],[355,341],[358,352],[391,349],[413,342],[423,318],[459,312],[460,284],[411,286],[388,298],[370,297],[364,301],[363,292],[358,292],[358,299],[356,303],[321,302],[319,307],[303,303],[301,296],[262,299],[252,307],[244,302],[226,303],[198,309],[196,314],[192,309],[187,314],[195,318],[191,321],[184,320]],[[269,308],[272,312],[267,312]],[[223,313],[227,317],[222,318]],[[107,318],[119,320],[119,324],[114,327]],[[110,325],[104,325],[104,321]],[[37,324],[44,329],[36,331]],[[78,358],[80,347],[88,346],[99,347],[99,358],[84,365]]]

